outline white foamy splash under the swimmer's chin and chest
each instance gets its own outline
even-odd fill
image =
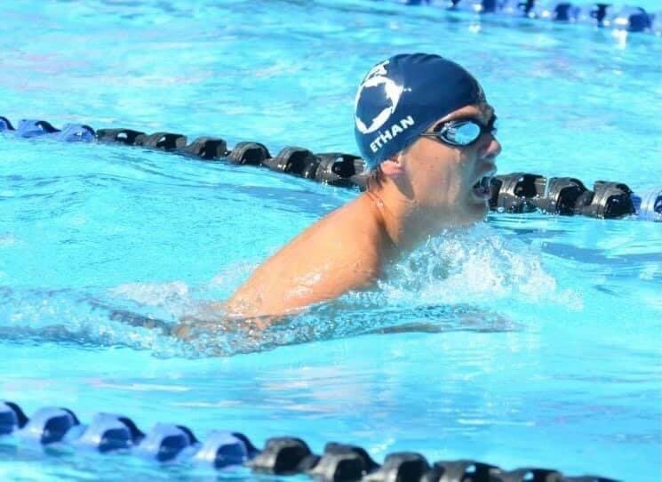
[[[387,301],[482,303],[514,299],[580,306],[546,271],[537,249],[487,225],[430,239],[387,272],[379,283]]]

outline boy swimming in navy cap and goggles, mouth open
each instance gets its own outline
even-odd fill
[[[428,237],[482,221],[501,150],[495,134],[494,109],[458,64],[415,53],[376,65],[355,99],[368,189],[265,261],[227,314],[268,319],[369,288]]]

